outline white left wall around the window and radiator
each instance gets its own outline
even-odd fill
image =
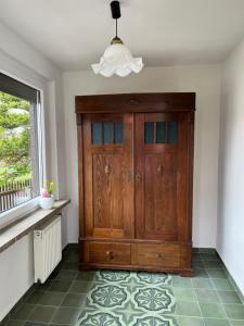
[[[62,74],[43,55],[0,23],[0,72],[43,90],[48,177],[57,196],[64,197],[64,114]],[[63,246],[67,243],[67,220],[63,217]],[[0,321],[34,283],[33,235],[0,253]]]

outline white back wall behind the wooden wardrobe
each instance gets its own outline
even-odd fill
[[[117,92],[196,92],[193,244],[216,247],[218,145],[218,65],[149,67],[126,78],[104,78],[90,72],[64,73],[68,242],[78,239],[78,167],[75,96]]]

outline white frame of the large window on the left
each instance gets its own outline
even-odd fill
[[[34,84],[26,82],[25,79],[18,78],[5,71],[0,70],[0,73],[8,77],[15,79],[26,86],[36,89],[39,93],[39,100],[37,101],[36,114],[37,114],[37,141],[38,141],[38,170],[39,170],[39,190],[43,179],[47,176],[47,158],[46,158],[46,124],[44,124],[44,90],[43,88],[37,87]],[[15,223],[17,220],[23,218],[27,214],[34,212],[39,208],[40,196],[37,196],[22,204],[18,204],[5,212],[0,213],[0,230],[10,224]]]

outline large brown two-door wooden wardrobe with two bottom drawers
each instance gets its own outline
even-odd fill
[[[76,97],[80,268],[192,274],[195,93]]]

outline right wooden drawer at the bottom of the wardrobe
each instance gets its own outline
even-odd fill
[[[180,267],[180,246],[132,244],[131,262],[141,266]]]

